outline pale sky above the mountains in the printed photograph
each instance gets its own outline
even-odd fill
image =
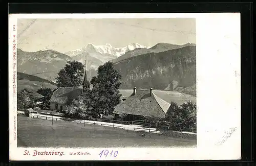
[[[19,49],[61,53],[88,43],[124,47],[131,43],[154,46],[196,43],[195,18],[18,19]]]

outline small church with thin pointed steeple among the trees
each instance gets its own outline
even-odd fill
[[[59,87],[53,92],[52,97],[49,101],[50,110],[63,111],[68,109],[72,101],[87,90],[90,90],[90,82],[87,80],[87,73],[85,69],[84,78],[81,86],[79,86],[78,88]]]

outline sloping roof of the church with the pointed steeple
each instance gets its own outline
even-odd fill
[[[59,87],[53,92],[50,102],[70,105],[81,93],[81,88]]]

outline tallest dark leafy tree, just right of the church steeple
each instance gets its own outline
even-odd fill
[[[121,102],[119,87],[121,85],[121,75],[115,70],[112,62],[106,62],[98,67],[97,77],[91,80],[92,89],[92,107],[95,111],[94,116],[98,117],[100,113],[112,113],[114,106]]]

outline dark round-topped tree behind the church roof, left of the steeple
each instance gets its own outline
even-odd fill
[[[57,86],[77,87],[82,83],[84,73],[83,64],[77,61],[68,61],[66,66],[60,69],[56,77]]]

